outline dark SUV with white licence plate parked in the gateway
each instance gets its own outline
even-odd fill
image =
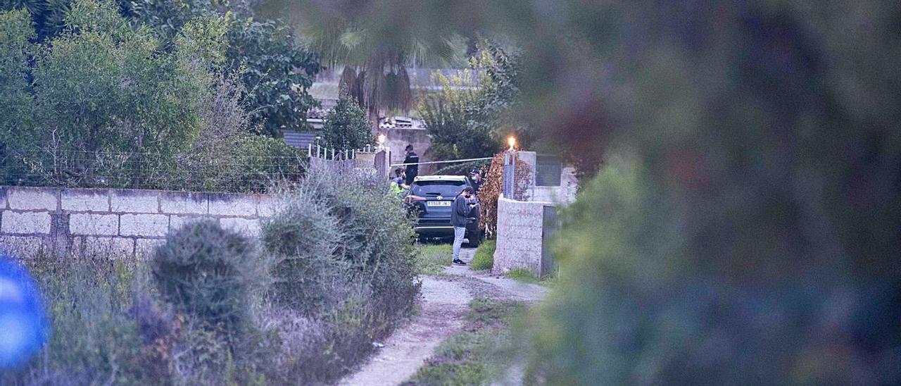
[[[416,233],[422,237],[453,237],[451,203],[463,188],[471,187],[464,176],[420,176],[413,180],[406,203],[418,212]],[[478,199],[469,203],[469,224],[466,239],[469,246],[478,246],[482,232],[478,229]]]

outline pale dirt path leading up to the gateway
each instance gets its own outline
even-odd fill
[[[460,259],[470,262],[475,249],[464,249]],[[474,297],[534,302],[547,289],[516,280],[492,277],[467,266],[445,269],[448,276],[423,276],[422,309],[409,324],[395,331],[378,354],[341,385],[396,385],[410,379],[444,339],[460,331]]]

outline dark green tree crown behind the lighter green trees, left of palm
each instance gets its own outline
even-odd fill
[[[150,1],[123,4],[124,14],[172,39],[197,17],[223,16],[228,23],[224,65],[241,75],[242,99],[251,127],[278,136],[283,128],[305,125],[317,106],[307,92],[321,69],[314,52],[299,44],[286,23],[257,20],[246,2],[219,0]]]

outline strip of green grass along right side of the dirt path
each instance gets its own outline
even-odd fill
[[[508,345],[508,324],[523,313],[516,301],[475,299],[469,304],[467,326],[441,343],[432,358],[405,385],[487,384],[502,375],[498,347]]]

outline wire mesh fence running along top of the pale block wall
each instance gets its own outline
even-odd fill
[[[265,192],[301,179],[307,153],[15,152],[0,156],[0,184]]]

